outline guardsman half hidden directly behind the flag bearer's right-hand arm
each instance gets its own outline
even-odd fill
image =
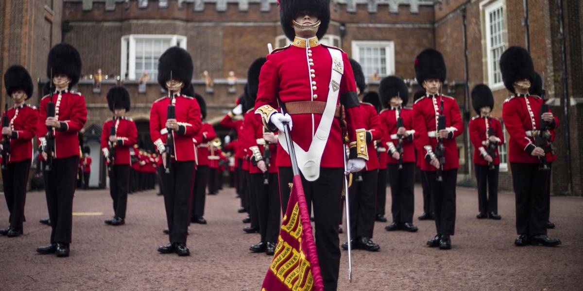
[[[366,81],[360,64],[349,59],[350,66],[356,80],[357,94],[361,95],[366,90]],[[360,114],[366,129],[366,144],[368,161],[366,166],[352,176],[352,185],[348,189],[350,205],[350,240],[353,249],[378,251],[380,246],[372,239],[374,230],[374,218],[378,179],[378,158],[374,144],[382,138],[381,123],[378,119],[377,109],[373,104],[360,102]],[[342,249],[348,249],[348,242],[342,244]]]

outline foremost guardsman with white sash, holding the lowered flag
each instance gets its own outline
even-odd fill
[[[343,175],[345,171],[358,172],[364,168],[368,159],[366,129],[348,56],[338,48],[321,45],[318,40],[328,29],[330,2],[282,0],[280,20],[293,45],[276,49],[267,56],[259,77],[255,112],[261,115],[269,130],[283,131],[284,122],[291,125],[304,194],[313,206],[324,288],[336,290],[340,264],[338,205]],[[343,113],[346,129],[340,126]],[[343,132],[350,142],[347,169],[344,168]],[[293,172],[284,139],[280,133],[276,164],[285,211]]]

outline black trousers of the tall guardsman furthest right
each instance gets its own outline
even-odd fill
[[[510,163],[516,195],[516,230],[519,235],[546,235],[547,171],[539,164]]]

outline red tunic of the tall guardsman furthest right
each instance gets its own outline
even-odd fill
[[[537,164],[538,157],[531,155],[535,149],[535,139],[527,132],[540,129],[540,107],[542,98],[535,95],[514,95],[504,101],[502,119],[510,140],[508,141],[508,161]],[[549,109],[550,112],[550,109]],[[555,128],[559,125],[555,117]]]

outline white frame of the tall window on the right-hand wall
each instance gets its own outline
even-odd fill
[[[491,28],[490,28],[490,13],[497,9],[502,9],[502,26],[501,26],[501,36],[502,42],[504,44],[504,48],[508,47],[506,36],[507,36],[507,29],[506,29],[506,8],[504,6],[504,0],[496,0],[496,1],[483,1],[480,3],[480,9],[483,9],[484,12],[484,29],[485,34],[484,38],[486,41],[486,62],[487,62],[487,77],[488,77],[488,85],[491,90],[498,90],[504,88],[504,82],[500,79],[497,83],[494,83],[494,68],[493,68],[493,56],[492,56],[492,41],[491,41]],[[499,70],[500,68],[498,68]]]

